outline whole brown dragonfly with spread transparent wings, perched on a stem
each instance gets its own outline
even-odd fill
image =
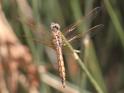
[[[82,17],[79,21],[75,22],[74,24],[70,25],[69,27],[64,29],[64,32],[66,34],[74,31],[79,24],[83,20],[87,20],[88,18],[94,19],[96,15],[99,13],[100,7],[96,7],[91,10],[85,17]],[[84,32],[84,34],[78,34],[72,37],[71,39],[68,40],[68,42],[71,42],[77,38],[80,37],[85,37],[85,35],[93,32],[93,31],[99,31],[101,28],[103,28],[103,24],[96,25],[89,29],[88,31]],[[57,55],[57,63],[58,63],[58,71],[59,71],[59,76],[61,78],[62,86],[65,88],[65,81],[66,81],[66,74],[65,74],[65,66],[64,66],[64,60],[63,60],[63,46],[66,46],[66,44],[63,41],[62,38],[62,32],[60,30],[60,25],[58,23],[51,23],[50,26],[50,31],[41,31],[41,28],[39,27],[37,29],[38,31],[34,31],[34,35],[36,36],[36,39],[34,40],[35,42],[41,43],[43,45],[46,45],[56,51]]]

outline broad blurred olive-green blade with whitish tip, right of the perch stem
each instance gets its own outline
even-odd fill
[[[84,61],[87,62],[87,68],[89,69],[89,71],[91,72],[95,80],[97,80],[99,86],[101,86],[103,91],[107,93],[107,88],[105,87],[105,83],[102,77],[102,73],[98,63],[98,58],[95,53],[93,42],[90,39],[90,36],[88,35],[84,38],[83,41],[84,41],[84,47],[85,47]]]

